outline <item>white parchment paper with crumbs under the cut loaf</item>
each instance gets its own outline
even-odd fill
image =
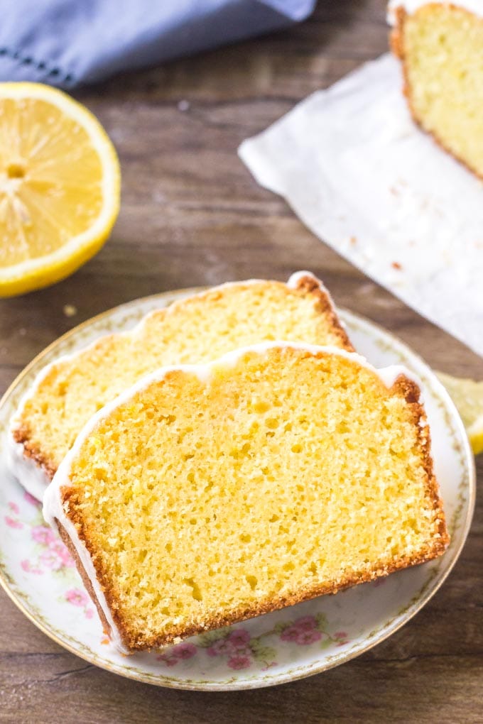
[[[382,56],[240,157],[320,239],[483,355],[483,183],[413,124],[401,86]]]

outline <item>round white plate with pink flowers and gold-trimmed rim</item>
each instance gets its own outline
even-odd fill
[[[25,615],[66,649],[109,671],[180,689],[249,689],[293,681],[347,661],[406,623],[439,588],[458,558],[474,508],[474,458],[440,382],[405,345],[343,311],[353,344],[377,367],[404,363],[424,385],[437,477],[452,536],[439,559],[372,584],[319,597],[245,623],[194,636],[161,652],[123,656],[104,636],[93,605],[40,505],[7,473],[9,419],[35,374],[59,355],[107,332],[129,329],[153,308],[193,290],[125,304],[72,329],[12,384],[0,403],[0,582]]]

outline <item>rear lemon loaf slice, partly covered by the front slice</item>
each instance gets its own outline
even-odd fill
[[[154,311],[132,332],[102,337],[41,372],[14,418],[10,467],[41,500],[83,425],[141,376],[277,339],[352,350],[329,293],[306,271],[287,284],[251,280],[214,287]]]

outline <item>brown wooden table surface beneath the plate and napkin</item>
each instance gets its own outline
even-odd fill
[[[114,140],[122,209],[111,240],[70,279],[0,301],[0,387],[59,334],[119,303],[229,279],[311,269],[337,304],[398,334],[429,364],[483,379],[483,361],[321,243],[259,188],[240,142],[387,48],[385,0],[319,1],[282,33],[76,95]],[[451,303],[451,300],[448,300]],[[64,306],[77,309],[66,316]],[[483,473],[483,455],[477,464]],[[0,720],[43,722],[483,722],[483,505],[448,581],[398,633],[285,686],[158,689],[64,651],[0,592]]]

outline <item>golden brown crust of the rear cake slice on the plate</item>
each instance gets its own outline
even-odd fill
[[[250,282],[234,282],[236,285],[240,285],[240,287],[243,287],[244,285],[247,285]],[[324,287],[321,287],[319,279],[316,279],[312,274],[301,274],[300,277],[297,279],[297,283],[294,287],[288,287],[287,284],[284,282],[275,282],[275,281],[267,281],[267,284],[273,284],[273,285],[281,285],[285,287],[287,290],[287,294],[290,293],[297,293],[302,296],[304,295],[310,295],[313,296],[316,300],[315,308],[316,311],[319,311],[322,315],[325,315],[326,318],[329,321],[329,324],[332,326],[332,333],[335,335],[335,337],[340,340],[340,346],[347,350],[348,352],[355,351],[353,348],[353,345],[350,343],[349,337],[347,332],[345,332],[345,329],[343,325],[340,322],[340,319],[337,317],[337,313],[335,311],[334,305],[332,303],[332,300],[329,296],[329,293],[327,290],[325,290]],[[213,287],[212,289],[206,290],[206,292],[202,292],[206,297],[213,297],[216,299],[217,295],[221,295],[222,287]],[[171,308],[177,308],[177,306],[187,306],[189,305],[193,300],[197,300],[199,295],[188,297],[185,299],[180,300],[178,303],[174,303],[172,306],[156,310],[154,312],[151,312],[151,317],[160,317],[161,319],[168,313],[168,311]],[[101,337],[101,340],[98,340],[97,344],[101,344],[106,338],[109,337],[116,337],[117,334],[108,334],[106,337]],[[96,345],[93,345],[93,348],[96,348]],[[23,445],[24,448],[24,456],[25,458],[28,458],[28,460],[32,460],[33,463],[35,463],[39,468],[41,468],[45,473],[49,480],[53,479],[57,466],[54,460],[51,460],[46,455],[46,452],[40,449],[38,445],[35,445],[33,442],[33,432],[29,428],[28,424],[26,423],[25,419],[21,418],[21,424],[19,424],[14,430],[12,430],[12,436],[14,438],[14,441],[19,443],[20,445]]]

